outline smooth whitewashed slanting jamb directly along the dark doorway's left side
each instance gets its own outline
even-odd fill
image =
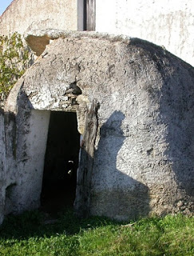
[[[18,130],[18,174],[10,207],[14,213],[40,206],[49,114],[49,111],[32,110]],[[26,122],[30,125],[26,126]]]

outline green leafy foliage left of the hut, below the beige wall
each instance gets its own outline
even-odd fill
[[[30,50],[22,42],[21,35],[0,36],[0,103],[29,66]]]

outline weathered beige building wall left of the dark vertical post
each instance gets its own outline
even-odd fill
[[[29,27],[77,30],[77,8],[77,0],[14,0],[0,17],[0,34],[24,34]]]

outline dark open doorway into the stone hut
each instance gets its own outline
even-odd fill
[[[42,180],[42,210],[57,214],[73,206],[80,148],[77,115],[51,111]]]

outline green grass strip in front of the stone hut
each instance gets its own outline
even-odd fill
[[[6,218],[0,227],[0,255],[194,255],[193,218],[182,215],[118,223],[79,219],[69,210],[55,224],[44,218],[38,211]]]

